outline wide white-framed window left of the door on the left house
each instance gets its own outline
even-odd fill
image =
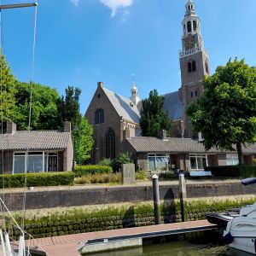
[[[14,173],[44,172],[44,152],[22,152],[14,154]]]

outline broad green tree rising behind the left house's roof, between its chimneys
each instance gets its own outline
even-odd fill
[[[57,90],[42,84],[17,83],[15,109],[12,119],[19,130],[27,130],[29,119],[30,94],[32,87],[32,130],[57,129],[57,102],[60,96]]]

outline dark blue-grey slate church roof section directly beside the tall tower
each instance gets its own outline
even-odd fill
[[[179,99],[179,91],[174,91],[165,95],[164,109],[168,110],[172,120],[183,118],[183,102]]]

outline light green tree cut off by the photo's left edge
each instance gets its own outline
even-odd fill
[[[16,79],[3,55],[0,65],[0,116],[6,121],[11,119],[15,108]]]

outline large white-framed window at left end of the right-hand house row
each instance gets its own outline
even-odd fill
[[[148,171],[168,170],[169,155],[167,154],[148,154]]]

